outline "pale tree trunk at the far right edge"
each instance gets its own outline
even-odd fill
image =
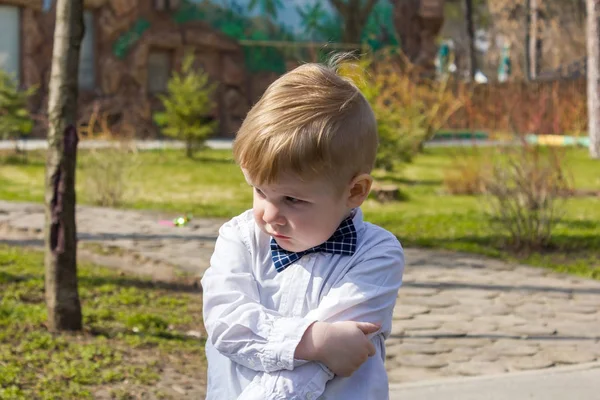
[[[600,159],[600,0],[587,0],[586,3],[590,156]]]

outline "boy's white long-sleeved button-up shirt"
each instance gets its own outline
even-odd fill
[[[353,217],[353,256],[314,253],[282,272],[271,260],[270,239],[252,211],[219,230],[202,278],[208,332],[207,400],[389,397],[384,340],[404,271],[404,253],[388,231]],[[315,321],[381,324],[370,335],[377,354],[350,377],[323,364],[294,359],[304,331]]]

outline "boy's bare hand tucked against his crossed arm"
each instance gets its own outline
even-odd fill
[[[320,361],[334,374],[347,377],[375,355],[367,335],[379,329],[379,325],[368,322],[315,322],[298,345],[296,356]]]

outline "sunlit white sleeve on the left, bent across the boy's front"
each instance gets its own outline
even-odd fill
[[[250,250],[236,219],[219,230],[202,290],[208,340],[221,354],[255,371],[294,369],[296,347],[315,320],[284,317],[260,304]]]

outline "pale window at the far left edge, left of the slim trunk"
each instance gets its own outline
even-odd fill
[[[0,5],[0,68],[20,81],[21,27],[19,8]]]

